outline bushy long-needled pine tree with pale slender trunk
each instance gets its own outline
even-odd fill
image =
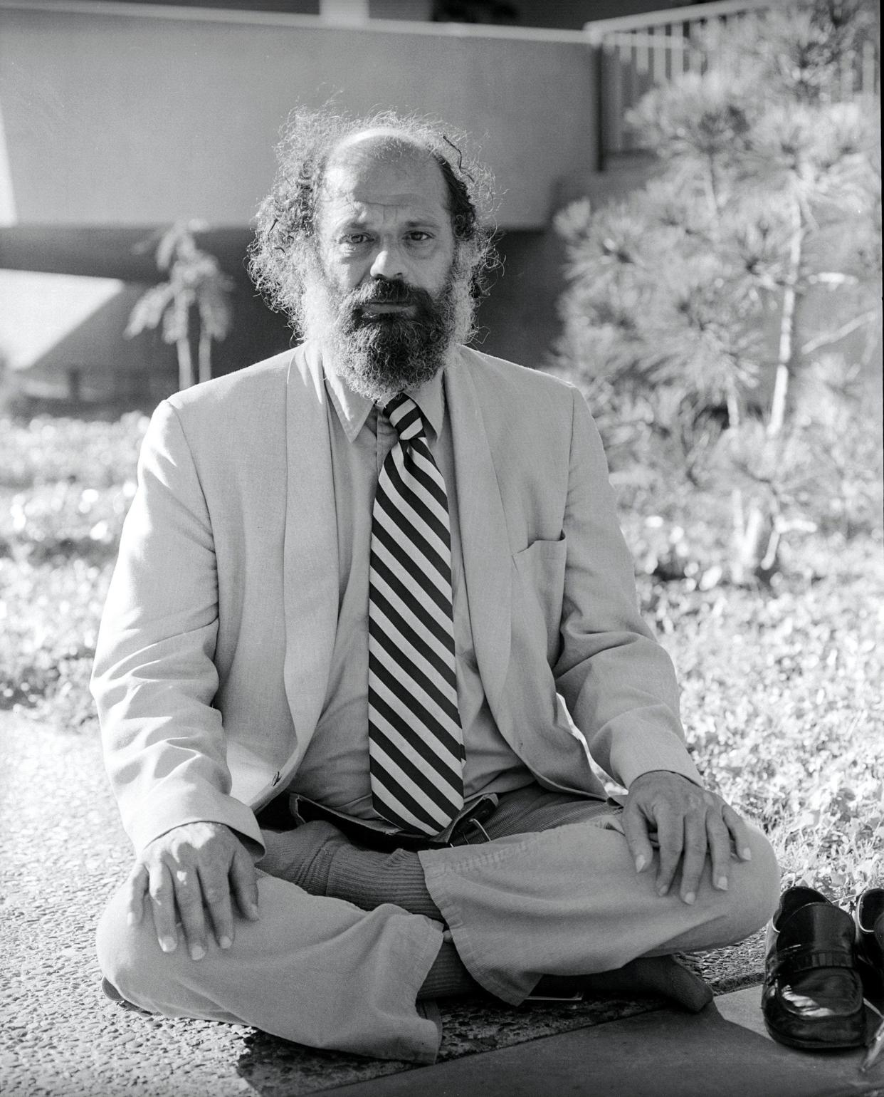
[[[735,581],[770,577],[782,534],[838,497],[849,511],[869,477],[845,445],[855,370],[837,346],[865,329],[871,352],[880,318],[877,110],[842,94],[873,30],[871,4],[832,0],[707,34],[705,71],[630,120],[651,182],[558,218],[560,361],[609,443],[730,490]]]

